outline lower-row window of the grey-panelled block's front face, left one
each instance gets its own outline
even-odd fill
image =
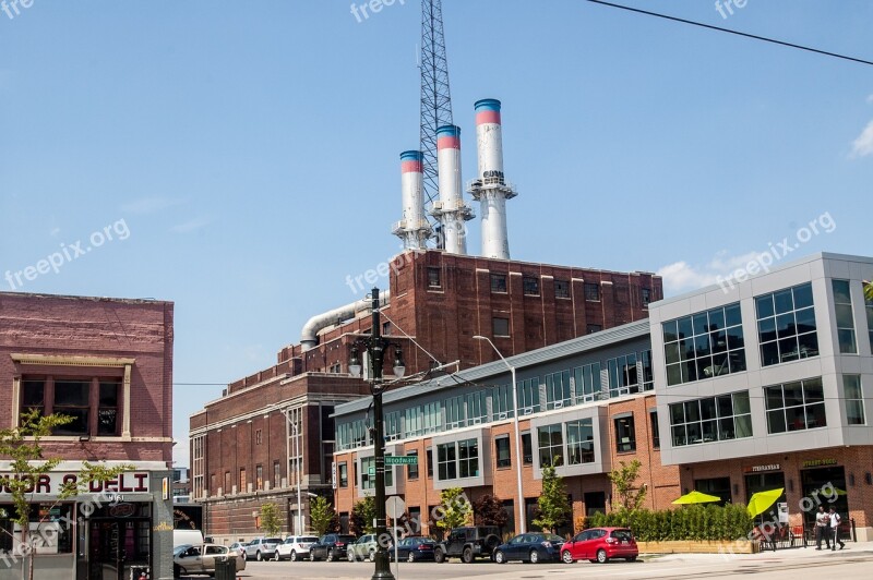
[[[670,404],[673,447],[752,436],[749,391]]]

